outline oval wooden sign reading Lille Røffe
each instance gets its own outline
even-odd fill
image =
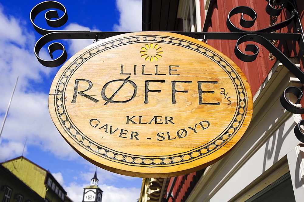
[[[50,89],[50,115],[88,161],[136,177],[205,168],[242,137],[250,87],[223,53],[174,33],[137,32],[93,43]]]

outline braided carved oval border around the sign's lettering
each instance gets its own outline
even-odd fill
[[[226,130],[221,133],[216,139],[209,142],[209,144],[204,145],[202,147],[196,148],[192,151],[185,152],[181,155],[173,155],[170,157],[164,156],[164,158],[159,157],[151,157],[151,156],[132,156],[130,154],[116,152],[114,150],[110,150],[109,148],[105,148],[104,146],[98,145],[97,143],[92,142],[90,139],[85,137],[85,135],[79,131],[74,124],[68,118],[68,113],[65,109],[64,104],[64,92],[67,81],[69,80],[71,74],[77,70],[82,63],[84,63],[88,58],[110,48],[121,46],[128,43],[138,43],[138,42],[161,42],[161,43],[171,43],[178,46],[183,46],[185,48],[197,51],[211,60],[219,64],[223,68],[224,71],[229,75],[231,81],[236,87],[237,93],[237,109],[235,116],[230,122],[230,125],[226,128]],[[110,161],[115,161],[127,165],[133,166],[172,166],[180,163],[187,163],[193,161],[195,159],[202,158],[215,152],[217,149],[222,147],[229,142],[231,138],[237,133],[240,129],[244,118],[247,112],[247,92],[244,88],[244,84],[240,79],[240,76],[233,69],[233,67],[225,61],[222,57],[218,56],[212,50],[209,50],[206,47],[201,47],[197,44],[191,43],[182,39],[175,39],[173,37],[160,37],[160,36],[133,36],[133,37],[125,37],[113,40],[111,42],[102,43],[91,50],[88,50],[86,53],[83,53],[77,59],[71,63],[64,73],[61,75],[59,82],[57,83],[55,90],[55,109],[57,118],[60,121],[61,125],[67,132],[67,134],[74,139],[80,146],[87,149],[91,153],[98,155],[102,158],[108,159]]]

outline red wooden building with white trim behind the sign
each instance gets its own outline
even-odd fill
[[[303,27],[303,1],[290,2]],[[250,28],[239,25],[241,14],[231,17],[234,25],[247,31],[267,28],[291,17],[285,8],[277,18],[269,16],[265,11],[267,4],[265,0],[143,0],[143,31],[230,32],[227,16],[237,6],[248,6],[257,13]],[[246,15],[244,18],[251,20]],[[292,22],[277,32],[301,33],[302,27]],[[234,54],[236,40],[207,42],[232,59],[246,75],[254,101],[250,126],[227,156],[206,169],[168,179],[143,179],[140,201],[304,202],[304,146],[294,134],[302,117],[280,104],[286,87],[303,84],[280,63],[280,58],[273,57],[260,44],[254,43],[260,49],[257,59],[243,62]],[[303,52],[296,41],[273,44],[303,70]],[[245,50],[245,46],[243,43],[239,47]]]

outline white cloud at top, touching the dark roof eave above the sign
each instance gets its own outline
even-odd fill
[[[115,24],[116,32],[141,31],[142,1],[141,0],[116,0],[117,9],[120,13],[119,25]]]

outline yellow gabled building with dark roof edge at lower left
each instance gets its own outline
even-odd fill
[[[20,156],[1,164],[46,201],[71,201],[54,176],[29,159]]]

